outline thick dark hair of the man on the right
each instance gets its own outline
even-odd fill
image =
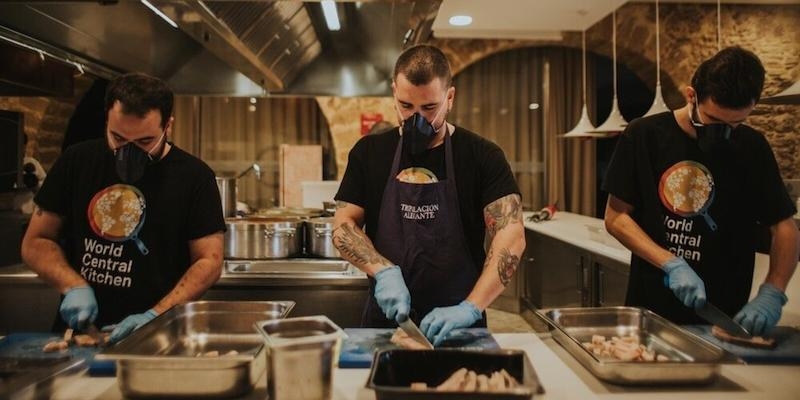
[[[697,100],[711,98],[722,107],[739,109],[757,103],[764,89],[764,66],[753,52],[727,47],[702,64],[692,76]]]

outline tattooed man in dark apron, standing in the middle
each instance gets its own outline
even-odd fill
[[[454,328],[486,326],[483,310],[516,271],[520,194],[497,145],[446,122],[455,88],[441,50],[407,49],[393,78],[400,128],[351,150],[333,241],[370,276],[362,326],[410,317],[438,345]]]

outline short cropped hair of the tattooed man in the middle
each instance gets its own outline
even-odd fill
[[[447,57],[436,47],[420,44],[409,47],[394,65],[392,78],[397,81],[397,75],[402,73],[414,86],[430,83],[434,78],[440,78],[445,87],[450,87],[452,73]]]

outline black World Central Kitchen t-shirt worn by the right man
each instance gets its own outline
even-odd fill
[[[603,189],[631,204],[648,236],[682,256],[705,283],[708,301],[729,315],[750,295],[757,226],[795,212],[763,135],[740,125],[707,153],[671,112],[631,122]],[[633,255],[626,303],[677,323],[700,323],[663,279],[662,270]]]

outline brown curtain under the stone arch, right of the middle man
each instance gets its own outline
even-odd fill
[[[593,93],[590,72],[587,92]],[[505,151],[526,209],[558,201],[561,210],[594,215],[594,142],[558,138],[580,117],[580,50],[510,50],[475,63],[454,81],[450,120]],[[593,96],[588,100],[592,110]]]

